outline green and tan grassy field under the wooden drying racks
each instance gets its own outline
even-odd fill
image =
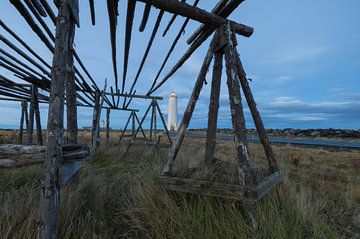
[[[84,141],[87,135],[82,135]],[[113,137],[116,140],[116,137]],[[194,167],[204,141],[187,139],[175,167]],[[251,144],[258,165],[265,158]],[[61,238],[359,238],[360,152],[275,147],[285,181],[258,205],[253,231],[235,202],[164,191],[157,175],[167,150],[102,146],[62,190]],[[231,163],[231,142],[216,158]],[[0,170],[0,238],[36,238],[40,166]]]

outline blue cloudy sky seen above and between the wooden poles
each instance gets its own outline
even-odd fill
[[[124,13],[127,1],[120,2],[120,12]],[[199,6],[207,10],[216,4],[216,1],[200,2]],[[80,1],[81,27],[76,31],[75,45],[84,64],[102,88],[105,78],[108,79],[108,85],[114,85],[114,78],[106,4],[105,1],[99,0],[95,3],[97,24],[94,27],[90,23],[88,1]],[[157,9],[152,9],[145,32],[139,33],[137,28],[143,7],[143,3],[138,3],[130,50],[127,90],[135,77],[158,14]],[[251,87],[267,128],[360,128],[359,11],[358,0],[248,0],[233,13],[230,19],[255,28],[252,37],[238,37],[238,51],[247,75],[253,80]],[[117,28],[119,76],[122,76],[123,65],[124,15],[119,16]],[[175,34],[184,21],[184,18],[178,17],[168,35],[163,38],[161,33],[170,17],[170,14],[164,15],[160,31],[136,87],[139,94],[146,93],[149,89]],[[0,1],[0,18],[51,62],[50,52],[8,1]],[[163,75],[184,53],[187,48],[185,40],[198,25],[194,21],[189,24]],[[0,29],[0,33],[8,37],[3,29]],[[165,116],[167,96],[174,90],[179,97],[180,120],[207,46],[208,42],[154,93],[165,97],[164,101],[159,102]],[[8,50],[3,43],[0,43],[0,47]],[[210,82],[211,70],[209,72],[207,79]],[[0,69],[0,74],[16,79],[4,69]],[[218,126],[230,127],[226,79],[224,74],[223,76]],[[209,92],[210,84],[207,84],[201,93],[190,127],[206,127]],[[139,108],[139,116],[142,116],[149,103],[137,100],[133,101],[130,107]],[[20,103],[2,101],[0,112],[1,128],[18,127]],[[46,125],[46,105],[41,106],[41,113],[42,124]],[[123,127],[128,114],[113,112],[112,127]],[[247,126],[254,127],[247,107],[245,114]],[[79,109],[79,127],[91,125],[91,119],[91,109]]]

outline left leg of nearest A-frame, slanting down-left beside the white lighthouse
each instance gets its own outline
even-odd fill
[[[189,126],[190,119],[191,119],[191,116],[193,114],[196,102],[199,99],[200,91],[201,91],[201,89],[203,87],[203,84],[204,84],[204,81],[205,81],[205,76],[206,76],[206,73],[207,73],[207,71],[209,69],[209,65],[211,63],[211,60],[212,60],[212,57],[213,57],[213,54],[214,54],[214,48],[215,48],[216,43],[217,43],[217,36],[218,36],[218,34],[215,34],[213,40],[210,43],[209,50],[208,50],[208,52],[207,52],[207,54],[205,56],[205,59],[204,59],[204,62],[202,64],[202,66],[201,66],[200,73],[199,73],[198,78],[196,80],[194,89],[193,89],[193,91],[191,93],[189,103],[188,103],[188,105],[186,107],[184,116],[183,116],[183,118],[181,120],[181,123],[180,123],[180,126],[178,128],[176,138],[173,141],[173,143],[171,145],[171,148],[169,150],[169,153],[167,155],[166,164],[164,165],[164,168],[163,168],[163,170],[161,172],[162,176],[167,176],[167,175],[171,174],[171,170],[172,170],[172,167],[173,167],[174,160],[175,160],[175,158],[177,156],[177,153],[179,152],[181,143],[182,143],[182,141],[184,139],[186,130],[187,130],[188,126]]]

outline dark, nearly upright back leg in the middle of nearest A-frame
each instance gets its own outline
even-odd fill
[[[214,163],[222,61],[223,61],[223,52],[222,51],[216,52],[213,76],[212,76],[213,78],[211,83],[208,129],[207,129],[206,148],[205,148],[205,164],[207,166],[211,166]]]

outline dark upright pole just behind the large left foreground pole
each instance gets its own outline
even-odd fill
[[[74,65],[74,47],[71,45],[67,55],[67,65]],[[77,104],[76,104],[76,84],[75,71],[71,67],[66,74],[66,119],[68,143],[77,144],[78,124],[77,124]]]

